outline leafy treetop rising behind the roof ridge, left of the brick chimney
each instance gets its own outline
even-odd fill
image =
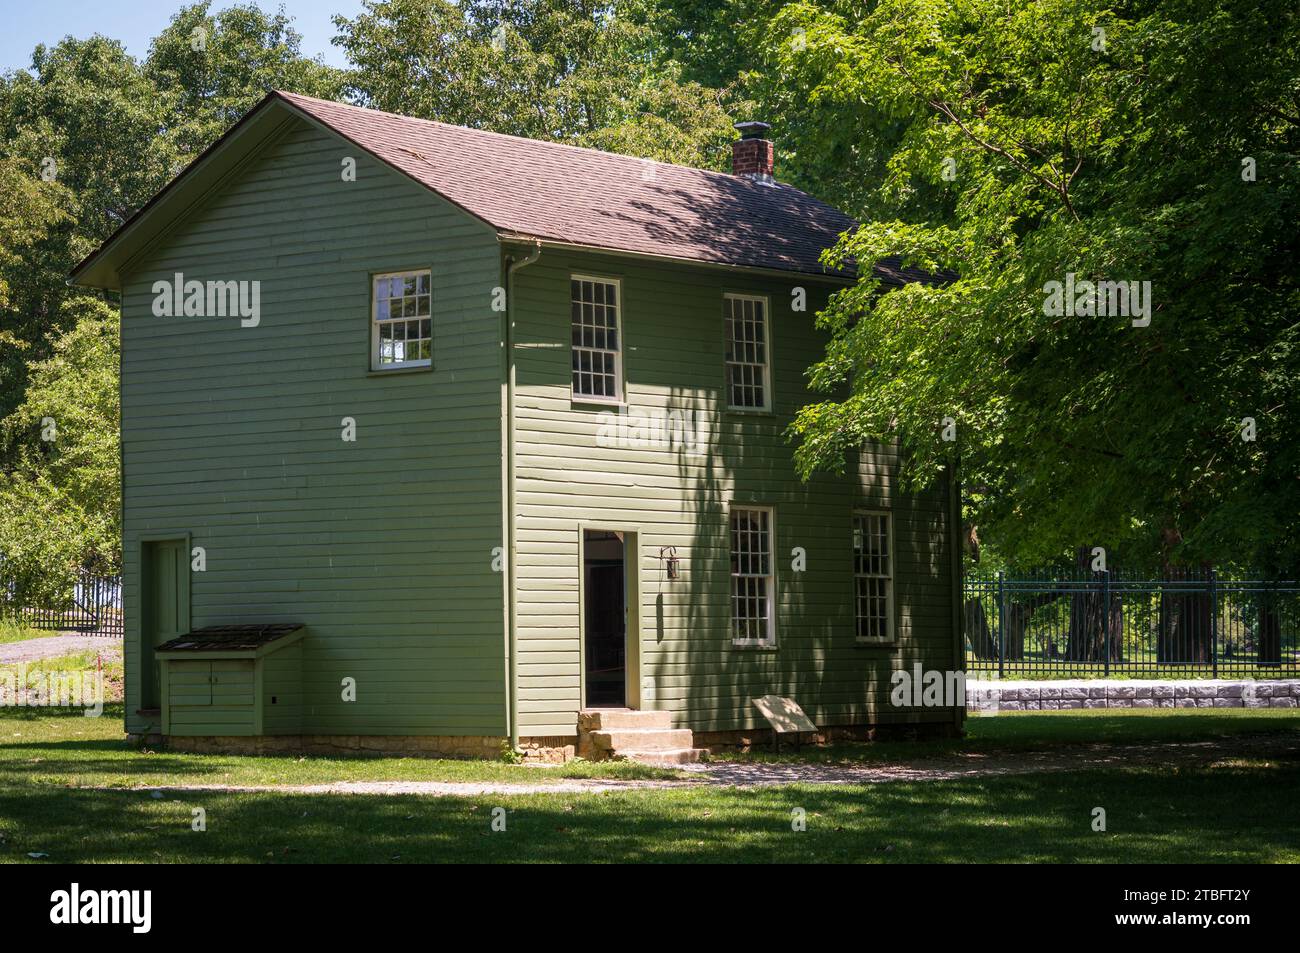
[[[335,17],[348,90],[387,112],[723,168],[718,92],[656,62],[618,1],[365,0]]]

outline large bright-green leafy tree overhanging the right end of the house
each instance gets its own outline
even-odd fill
[[[841,190],[874,220],[828,260],[901,254],[958,277],[837,295],[811,380],[852,393],[800,413],[803,472],[898,439],[919,485],[959,451],[971,519],[1011,563],[1104,545],[1130,564],[1300,571],[1300,16],[850,7],[792,4],[764,47],[783,101],[876,173],[861,199]],[[1046,282],[1071,272],[1149,281],[1150,325],[1046,313]]]

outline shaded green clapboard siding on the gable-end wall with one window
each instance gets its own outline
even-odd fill
[[[355,182],[341,177],[346,156]],[[372,374],[370,274],[421,267],[433,270],[434,367]],[[191,573],[194,625],[307,625],[304,732],[506,732],[503,577],[491,567],[499,267],[481,222],[300,121],[133,263],[122,322],[129,729],[159,727],[136,714],[140,540],[190,533],[207,555],[207,571]],[[260,281],[260,325],[155,317],[152,285],[176,272]],[[341,439],[344,416],[355,443]],[[344,677],[355,702],[341,698]]]

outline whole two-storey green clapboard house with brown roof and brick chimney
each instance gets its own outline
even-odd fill
[[[126,729],[671,761],[775,694],[959,731],[890,697],[961,668],[956,489],[888,447],[796,476],[852,222],[740,127],[723,174],[273,92],[78,265],[122,298]]]

